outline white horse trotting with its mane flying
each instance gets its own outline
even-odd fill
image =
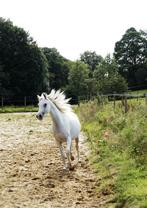
[[[79,161],[79,134],[81,125],[77,115],[72,111],[71,105],[68,103],[70,99],[66,99],[64,92],[60,90],[52,90],[49,95],[42,93],[37,96],[39,100],[39,111],[36,117],[42,120],[46,113],[50,113],[53,121],[53,133],[57,145],[59,146],[61,158],[63,160],[63,169],[72,169],[71,160],[74,157],[71,154],[72,140],[75,139],[77,151],[77,162]],[[66,142],[66,156],[68,163],[65,163],[65,155],[63,153],[62,142]]]

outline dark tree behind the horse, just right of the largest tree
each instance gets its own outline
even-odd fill
[[[69,61],[56,48],[42,48],[42,51],[48,61],[50,88],[65,88],[68,84]]]

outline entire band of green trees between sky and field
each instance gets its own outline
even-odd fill
[[[15,98],[66,90],[77,99],[98,93],[123,93],[147,85],[147,33],[129,28],[115,44],[114,56],[85,51],[80,60],[56,48],[39,48],[24,29],[0,18],[0,94]]]

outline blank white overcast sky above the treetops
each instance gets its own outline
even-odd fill
[[[75,61],[87,50],[112,54],[130,27],[147,30],[147,0],[0,0],[0,17]]]

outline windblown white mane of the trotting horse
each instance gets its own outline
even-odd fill
[[[47,98],[52,101],[55,106],[61,111],[61,112],[67,112],[72,111],[71,105],[69,104],[69,100],[71,98],[66,99],[66,96],[64,94],[64,91],[54,89],[50,92],[49,95],[47,95]]]

